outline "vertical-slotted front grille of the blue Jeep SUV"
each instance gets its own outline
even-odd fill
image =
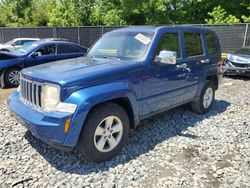
[[[28,104],[41,108],[42,84],[21,78],[21,99]]]

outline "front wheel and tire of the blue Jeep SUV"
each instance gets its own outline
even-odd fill
[[[79,137],[78,150],[94,162],[109,160],[122,149],[128,133],[128,114],[121,106],[106,103],[87,117]]]

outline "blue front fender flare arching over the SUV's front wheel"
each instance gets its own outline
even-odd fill
[[[72,93],[64,102],[77,104],[77,109],[72,118],[65,145],[74,147],[77,144],[84,121],[93,106],[124,97],[130,101],[136,119],[139,112],[136,96],[125,82],[93,86]]]

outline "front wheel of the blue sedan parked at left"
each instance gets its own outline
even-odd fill
[[[18,87],[20,82],[20,69],[10,68],[4,73],[4,86]]]

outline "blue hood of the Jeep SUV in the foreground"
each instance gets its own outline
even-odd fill
[[[22,76],[65,87],[88,87],[122,79],[138,63],[87,56],[55,61],[22,70]]]

